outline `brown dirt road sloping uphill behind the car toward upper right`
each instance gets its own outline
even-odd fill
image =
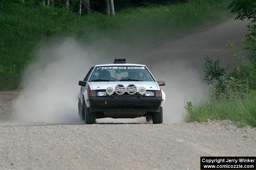
[[[232,71],[238,62],[231,54],[232,49],[226,44],[228,40],[235,41],[240,50],[243,47],[241,37],[248,34],[246,27],[248,23],[249,21],[232,18],[217,25],[208,25],[191,32],[179,33],[151,48],[134,52],[133,55],[136,57],[130,56],[130,58],[132,62],[144,60],[143,63],[152,69],[157,69],[154,65],[159,62],[173,64],[182,61],[187,67],[193,67],[203,75],[203,58],[209,56],[213,60],[220,59],[222,66],[229,64]],[[245,51],[242,52],[245,54]]]

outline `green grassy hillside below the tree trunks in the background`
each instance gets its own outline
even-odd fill
[[[78,16],[30,1],[5,2],[0,12],[0,89],[16,88],[23,70],[33,59],[32,51],[55,37],[72,36],[86,44],[121,41],[142,46],[143,42],[154,42],[231,16],[226,9],[229,0],[130,7],[117,12],[114,18],[101,13]]]

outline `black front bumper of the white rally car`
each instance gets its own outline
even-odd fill
[[[91,112],[160,112],[161,97],[90,97]]]

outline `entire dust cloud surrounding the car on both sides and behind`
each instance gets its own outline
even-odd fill
[[[125,47],[127,48],[127,47]],[[205,100],[204,83],[198,71],[183,60],[148,60],[143,49],[129,53],[119,47],[102,52],[99,46],[86,47],[73,38],[53,42],[35,52],[36,58],[23,76],[22,91],[14,103],[16,121],[83,124],[78,115],[78,81],[95,64],[126,58],[130,63],[146,64],[157,80],[165,80],[164,123],[184,121],[184,100]],[[125,52],[124,52],[125,51]],[[96,119],[98,123],[145,123],[136,119]]]

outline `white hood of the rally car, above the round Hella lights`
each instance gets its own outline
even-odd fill
[[[115,88],[116,85],[122,84],[127,87],[129,84],[134,84],[139,87],[145,87],[146,90],[160,90],[157,82],[89,82],[90,88],[92,90],[105,90],[108,87]]]

